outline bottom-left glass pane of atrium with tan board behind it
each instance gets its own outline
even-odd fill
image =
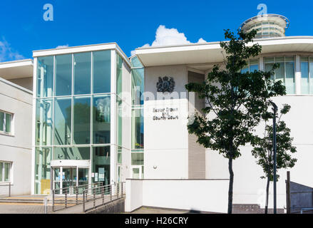
[[[52,149],[38,148],[35,150],[35,194],[50,194],[50,162]]]

